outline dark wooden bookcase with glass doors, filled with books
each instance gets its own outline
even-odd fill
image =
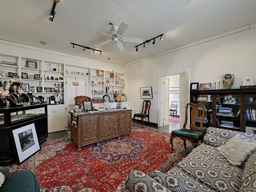
[[[191,90],[190,102],[202,103],[206,107],[206,128],[256,132],[256,89]],[[251,113],[250,118],[246,111]]]

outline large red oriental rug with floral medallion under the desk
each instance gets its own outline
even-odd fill
[[[153,170],[168,171],[172,163],[184,158],[192,149],[184,150],[183,141],[176,138],[174,153],[170,154],[170,133],[135,125],[132,136],[121,136],[78,146],[70,138],[62,138],[41,145],[41,150],[14,170],[31,170],[38,179],[41,192],[95,192],[126,191],[124,181],[132,170],[146,174]],[[86,189],[87,188],[87,189]]]

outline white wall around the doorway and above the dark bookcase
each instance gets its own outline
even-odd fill
[[[186,68],[190,68],[190,82],[214,84],[230,73],[235,76],[235,88],[240,87],[244,77],[251,77],[256,82],[255,48],[254,27],[124,66],[130,109],[141,110],[140,87],[152,86],[150,122],[157,123],[160,111],[156,95],[158,75],[176,74],[173,72]]]

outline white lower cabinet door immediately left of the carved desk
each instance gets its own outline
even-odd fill
[[[68,128],[66,119],[66,105],[54,106],[54,132],[66,130]]]

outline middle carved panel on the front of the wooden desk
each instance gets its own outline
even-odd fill
[[[118,134],[118,113],[99,115],[98,123],[100,138]]]

